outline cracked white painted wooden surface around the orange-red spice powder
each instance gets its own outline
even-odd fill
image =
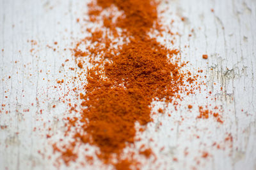
[[[181,49],[182,60],[190,61],[191,69],[204,70],[207,85],[206,91],[187,97],[172,117],[160,115],[148,124],[143,141],[154,148],[158,159],[145,160],[143,169],[256,169],[256,1],[173,0],[168,5],[172,15],[166,12],[165,17],[186,18],[173,26],[181,34],[175,46]],[[83,18],[85,12],[86,1],[79,0],[0,1],[0,104],[5,104],[0,106],[0,169],[56,169],[56,155],[45,135],[61,138],[65,128],[61,117],[68,111],[59,97],[68,87],[56,90],[53,86],[58,79],[67,81],[76,75],[68,70],[75,66],[72,55],[63,49],[81,36],[76,18]],[[191,29],[195,31],[189,37]],[[31,39],[37,44],[27,42]],[[58,48],[54,52],[47,45]],[[202,59],[204,53],[208,60]],[[69,65],[61,66],[66,59]],[[209,91],[212,95],[206,99]],[[195,106],[191,112],[186,109],[188,103]],[[225,123],[196,119],[197,106],[205,104],[222,108]],[[166,113],[170,111],[172,106]],[[233,141],[225,141],[228,134]],[[148,142],[149,138],[154,141]],[[212,146],[215,142],[221,149]],[[202,152],[209,157],[202,158]]]

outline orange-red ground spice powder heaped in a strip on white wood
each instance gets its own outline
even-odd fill
[[[72,108],[78,116],[67,118],[66,135],[75,128],[74,141],[65,146],[54,144],[54,151],[61,153],[66,164],[76,161],[76,147],[88,143],[99,148],[97,157],[104,164],[115,169],[140,169],[138,162],[123,153],[127,144],[134,143],[134,124],[143,126],[152,121],[152,101],[177,105],[182,100],[180,94],[193,93],[188,89],[196,76],[182,71],[186,64],[180,62],[179,50],[168,49],[149,36],[162,31],[157,5],[150,0],[88,4],[90,22],[102,22],[102,27],[87,28],[90,36],[77,41],[72,49],[77,66],[86,70],[86,84],[79,94],[81,109]],[[113,6],[122,14],[116,16]],[[113,40],[121,38],[119,44]],[[150,157],[152,150],[140,154]]]

